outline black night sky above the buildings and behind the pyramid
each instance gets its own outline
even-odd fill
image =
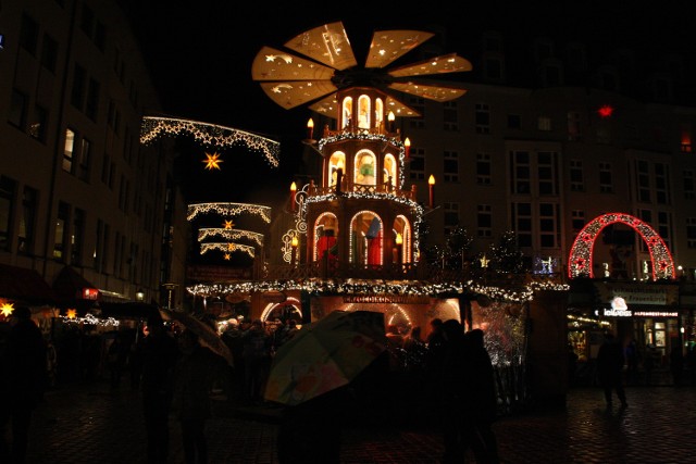
[[[162,115],[234,127],[282,143],[281,167],[275,170],[259,154],[233,149],[224,152],[221,172],[203,171],[202,149],[198,149],[185,167],[189,173],[187,193],[191,201],[253,200],[273,205],[287,192],[293,174],[301,170],[300,140],[312,114],[306,106],[285,110],[271,101],[251,79],[251,63],[261,47],[283,49],[288,39],[312,27],[343,21],[359,63],[364,59],[372,33],[391,28],[435,30],[433,26],[437,26],[436,30],[442,33],[431,40],[443,41],[446,52],[457,52],[467,59],[471,59],[471,50],[480,49],[477,38],[487,28],[505,30],[510,36],[529,36],[534,32],[534,36],[577,38],[600,48],[623,43],[646,53],[659,52],[663,41],[674,39],[684,47],[695,45],[688,24],[695,8],[688,1],[648,7],[613,0],[487,1],[485,5],[428,1],[418,9],[394,1],[121,2],[144,42],[146,59],[160,89]],[[346,7],[341,8],[341,3]],[[458,11],[440,7],[443,3],[453,4]],[[659,8],[664,4],[671,10]],[[408,63],[408,54],[405,60],[399,63]],[[467,73],[459,76],[467,81]],[[195,146],[188,148],[191,152],[197,150]]]

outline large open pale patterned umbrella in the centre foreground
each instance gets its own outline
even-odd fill
[[[281,346],[265,399],[300,404],[348,385],[385,350],[383,313],[334,311]]]

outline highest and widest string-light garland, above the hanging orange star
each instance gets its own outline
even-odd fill
[[[201,145],[207,147],[216,147],[220,149],[244,145],[249,150],[263,153],[269,164],[273,167],[278,167],[281,142],[271,140],[270,138],[200,121],[157,116],[142,117],[142,125],[140,126],[140,143],[151,143],[163,134],[188,134],[194,138],[194,140]]]

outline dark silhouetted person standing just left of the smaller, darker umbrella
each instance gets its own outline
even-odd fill
[[[159,314],[148,318],[147,329],[148,336],[141,347],[140,379],[147,459],[148,463],[165,463],[169,457],[169,415],[178,348]]]

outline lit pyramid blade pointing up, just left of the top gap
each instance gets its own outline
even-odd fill
[[[285,47],[335,70],[347,70],[358,64],[341,22],[306,30]]]

